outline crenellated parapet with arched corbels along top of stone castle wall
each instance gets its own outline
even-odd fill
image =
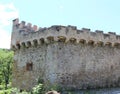
[[[75,26],[54,25],[49,28],[38,28],[36,25],[13,20],[11,49],[31,47],[43,43],[65,42],[82,43],[94,46],[119,47],[120,35],[115,32],[90,31],[88,28],[78,30]]]

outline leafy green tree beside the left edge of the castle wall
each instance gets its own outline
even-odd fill
[[[5,89],[11,80],[13,64],[13,52],[0,49],[0,81],[4,83]]]

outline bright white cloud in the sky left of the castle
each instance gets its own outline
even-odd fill
[[[13,3],[0,3],[0,48],[10,48],[12,20],[19,12]]]

